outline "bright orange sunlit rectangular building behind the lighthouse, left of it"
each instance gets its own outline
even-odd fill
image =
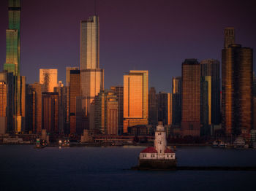
[[[135,125],[148,125],[148,71],[124,75],[124,133]]]

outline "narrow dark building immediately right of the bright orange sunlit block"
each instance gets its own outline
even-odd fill
[[[148,124],[158,124],[157,93],[154,87],[151,87],[148,93]]]

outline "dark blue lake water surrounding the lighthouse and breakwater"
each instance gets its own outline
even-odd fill
[[[131,171],[144,147],[0,145],[0,190],[256,190],[255,171]],[[254,149],[178,147],[178,165],[256,165]]]

